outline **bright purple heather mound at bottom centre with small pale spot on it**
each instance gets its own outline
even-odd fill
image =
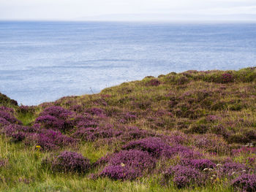
[[[108,166],[101,176],[113,180],[134,180],[154,169],[156,160],[148,152],[140,150],[122,150],[108,159]]]

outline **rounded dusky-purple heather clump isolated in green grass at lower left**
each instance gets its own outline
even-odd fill
[[[91,168],[89,159],[80,153],[64,151],[53,159],[45,159],[43,165],[50,165],[53,172],[76,172],[83,174]]]

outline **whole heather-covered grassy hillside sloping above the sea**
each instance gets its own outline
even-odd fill
[[[0,137],[0,191],[256,191],[256,67],[0,94]]]

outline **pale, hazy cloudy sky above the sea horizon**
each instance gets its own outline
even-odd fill
[[[0,20],[256,21],[256,0],[0,0]]]

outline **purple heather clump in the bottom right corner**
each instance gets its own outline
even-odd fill
[[[233,180],[232,185],[243,191],[254,192],[256,191],[256,174],[242,174]]]

